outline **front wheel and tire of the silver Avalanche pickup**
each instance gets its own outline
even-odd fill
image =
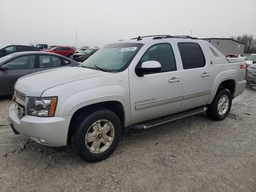
[[[92,112],[84,120],[75,122],[75,125],[77,129],[71,138],[71,144],[74,152],[86,162],[108,158],[122,136],[120,119],[114,112],[106,109]]]

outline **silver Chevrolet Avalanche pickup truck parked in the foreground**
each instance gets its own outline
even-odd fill
[[[83,160],[110,156],[122,133],[206,111],[228,115],[246,85],[244,58],[225,58],[189,36],[146,36],[107,44],[80,67],[19,78],[9,124],[51,147],[67,146]]]

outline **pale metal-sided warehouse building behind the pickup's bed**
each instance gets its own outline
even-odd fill
[[[203,38],[222,53],[244,54],[245,44],[230,38]]]

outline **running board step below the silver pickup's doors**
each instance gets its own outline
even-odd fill
[[[146,122],[142,122],[141,124],[134,124],[131,125],[130,129],[132,130],[143,130],[143,129],[148,129],[157,125],[161,125],[164,123],[168,123],[180,118],[184,118],[184,117],[188,117],[194,114],[198,114],[198,113],[202,113],[204,111],[207,110],[207,107],[200,107],[200,108],[196,108],[193,110],[187,110],[181,113],[176,113],[176,114],[172,114],[169,116],[164,116],[161,118],[156,118],[154,120],[150,120],[150,121],[146,121]]]

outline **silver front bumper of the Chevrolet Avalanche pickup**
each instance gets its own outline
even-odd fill
[[[59,147],[67,145],[68,127],[72,116],[36,117],[25,115],[21,119],[9,107],[8,122],[15,134],[22,134],[40,144]]]

